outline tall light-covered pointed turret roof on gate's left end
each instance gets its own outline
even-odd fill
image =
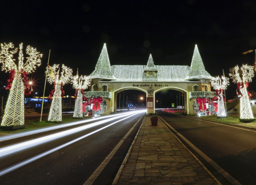
[[[101,50],[100,57],[94,69],[94,72],[88,76],[89,78],[100,78],[100,79],[116,79],[110,69],[110,61],[107,54],[106,43]]]

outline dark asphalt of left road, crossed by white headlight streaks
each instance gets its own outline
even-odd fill
[[[112,152],[113,148],[123,139],[132,126],[143,116],[144,113],[134,115],[66,147],[56,149],[55,152],[0,176],[0,184],[83,185],[98,166],[100,166],[102,161],[105,160],[107,155]],[[123,118],[119,118],[119,120],[120,119]],[[75,132],[74,134],[67,134],[53,141],[0,157],[0,172],[12,165],[15,166],[22,161],[31,159],[34,156],[43,154],[45,151],[50,151],[70,141],[74,141],[79,137],[92,133],[116,121],[117,120],[109,121],[99,126]],[[124,140],[124,143],[113,155],[98,178],[95,179],[94,185],[109,185],[112,183],[142,121],[143,119],[140,119],[137,126],[131,131],[127,139]],[[80,124],[79,126],[88,124],[89,123]],[[72,128],[74,127],[78,126],[73,126]],[[71,127],[69,129],[71,129]],[[64,130],[67,131],[68,129],[66,128]],[[24,140],[30,141],[31,139],[42,138],[45,134],[46,136],[52,136],[53,133],[57,133],[58,131],[63,131],[63,129],[2,141],[0,142],[0,149],[11,146],[17,142],[24,142]]]

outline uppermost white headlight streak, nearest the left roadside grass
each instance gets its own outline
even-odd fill
[[[94,118],[94,119],[86,119],[86,120],[76,121],[76,122],[72,122],[72,123],[50,126],[48,128],[37,129],[37,130],[33,130],[33,131],[27,131],[27,132],[23,132],[23,133],[19,133],[19,134],[13,134],[13,135],[10,135],[10,136],[2,136],[2,137],[0,137],[0,142],[1,141],[6,141],[6,140],[9,140],[9,139],[18,138],[18,137],[29,136],[29,135],[33,135],[33,134],[37,134],[37,133],[41,133],[41,132],[46,132],[46,131],[50,131],[50,130],[54,130],[54,129],[69,127],[69,126],[73,126],[73,125],[77,125],[77,124],[81,124],[81,123],[88,123],[88,122],[92,122],[92,121],[95,121],[95,120],[104,119],[104,118],[107,118],[107,117],[115,117],[115,116],[130,114],[130,113],[131,112],[108,115],[108,116],[103,116],[103,117],[97,117],[97,118]]]

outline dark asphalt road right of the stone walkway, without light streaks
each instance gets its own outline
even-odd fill
[[[256,185],[256,130],[158,113],[239,183]]]

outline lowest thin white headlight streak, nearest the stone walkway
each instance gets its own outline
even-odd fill
[[[48,154],[51,154],[51,153],[53,153],[53,152],[55,152],[55,151],[57,151],[57,150],[59,150],[59,149],[61,149],[61,148],[64,148],[64,147],[66,147],[66,146],[68,146],[68,145],[70,145],[70,144],[73,144],[74,142],[77,142],[77,141],[79,141],[79,140],[81,140],[81,139],[84,139],[84,138],[86,138],[87,136],[91,136],[91,135],[93,135],[94,133],[99,132],[100,130],[106,129],[107,127],[110,127],[110,126],[112,126],[112,125],[115,124],[115,123],[118,123],[118,122],[120,122],[120,121],[123,121],[123,120],[125,120],[125,119],[128,119],[129,117],[132,117],[132,116],[134,116],[134,115],[136,115],[136,114],[139,114],[139,113],[141,113],[141,112],[144,112],[144,111],[139,111],[139,112],[137,112],[137,113],[135,113],[135,114],[132,114],[131,116],[125,117],[125,118],[123,118],[123,119],[120,119],[120,120],[118,120],[118,121],[116,121],[116,122],[114,122],[114,123],[111,123],[111,124],[109,124],[109,125],[106,125],[105,127],[102,127],[102,128],[100,128],[100,129],[94,130],[93,132],[91,132],[91,133],[89,133],[89,134],[86,134],[86,135],[81,136],[81,137],[79,137],[79,138],[77,138],[77,139],[75,139],[75,140],[72,140],[72,141],[70,141],[70,142],[67,142],[67,143],[65,143],[65,144],[62,144],[61,146],[58,146],[58,147],[53,148],[53,149],[50,149],[50,150],[48,150],[48,151],[46,151],[46,152],[44,152],[44,153],[42,153],[42,154],[38,154],[38,155],[36,155],[36,156],[34,156],[34,157],[31,157],[30,159],[24,160],[24,161],[22,161],[22,162],[19,162],[18,164],[15,164],[15,165],[10,166],[10,167],[8,167],[8,168],[6,168],[6,169],[3,169],[3,170],[0,171],[0,176],[5,175],[6,173],[10,173],[10,172],[12,172],[13,170],[18,169],[19,167],[25,166],[25,165],[27,165],[27,164],[29,164],[29,163],[31,163],[31,162],[37,160],[37,159],[40,159],[40,158],[42,158],[42,157],[44,157],[44,156],[46,156],[46,155],[48,155]]]

